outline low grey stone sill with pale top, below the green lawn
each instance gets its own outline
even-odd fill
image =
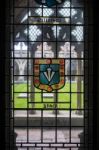
[[[27,122],[30,127],[40,127],[41,120],[43,120],[43,126],[54,127],[56,126],[56,115],[52,112],[44,112],[43,119],[41,119],[41,112],[36,111],[36,114],[27,114],[26,112],[20,113],[16,112],[14,117],[14,126],[16,127],[26,127]],[[71,118],[71,119],[70,119]],[[57,115],[57,126],[58,127],[83,127],[84,119],[83,115],[76,115],[70,112],[61,112]]]

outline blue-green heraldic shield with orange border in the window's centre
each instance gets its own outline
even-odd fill
[[[64,59],[35,59],[34,86],[38,89],[52,92],[65,85]]]

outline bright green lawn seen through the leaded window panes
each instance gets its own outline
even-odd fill
[[[28,89],[27,84],[15,84],[14,87],[12,87],[12,95],[14,99],[14,108],[32,108],[31,99],[30,98],[18,98],[18,95],[21,93],[26,93],[27,91],[30,92],[30,88]],[[17,92],[17,93],[16,93]],[[44,108],[44,104],[54,104],[53,98],[43,98],[42,103],[42,96],[40,90],[35,89],[35,108]],[[63,93],[65,92],[65,93]],[[71,94],[69,93],[71,92]],[[75,92],[75,93],[73,93]],[[70,83],[66,83],[64,88],[59,90],[58,94],[58,102],[61,102],[58,104],[58,108],[70,108],[70,102],[71,102],[71,108],[76,109],[77,108],[77,84],[72,83],[70,87]],[[82,92],[83,92],[83,84],[82,84]],[[14,94],[13,94],[14,93]],[[82,108],[83,108],[83,94],[81,94],[82,97]],[[64,103],[65,102],[65,103]]]

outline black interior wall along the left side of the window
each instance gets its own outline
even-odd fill
[[[10,2],[0,4],[0,149],[9,149],[9,99],[10,99]],[[6,128],[5,128],[6,127]]]

